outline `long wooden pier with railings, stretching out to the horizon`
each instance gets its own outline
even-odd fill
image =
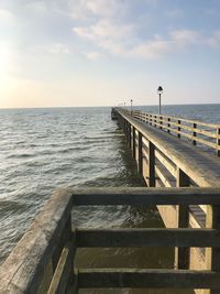
[[[0,293],[94,287],[220,293],[220,127],[124,108],[113,108],[111,118],[123,130],[146,187],[55,192],[0,268]],[[165,227],[76,228],[73,207],[90,205],[155,205]],[[173,247],[175,265],[76,269],[78,248],[111,247]]]

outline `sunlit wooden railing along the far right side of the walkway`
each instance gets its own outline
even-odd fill
[[[187,140],[190,140],[194,145],[200,144],[210,150],[215,150],[217,155],[220,156],[220,124],[170,116],[145,113],[139,110],[132,111],[132,113],[128,109],[122,110],[150,126],[160,128],[178,138],[186,138]]]

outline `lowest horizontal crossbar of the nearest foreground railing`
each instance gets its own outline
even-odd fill
[[[80,288],[220,288],[220,273],[210,271],[79,269]]]

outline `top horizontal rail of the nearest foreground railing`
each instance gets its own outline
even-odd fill
[[[81,188],[74,189],[74,205],[218,205],[220,188]]]

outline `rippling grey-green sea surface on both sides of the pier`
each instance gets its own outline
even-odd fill
[[[157,107],[138,107],[156,113]],[[141,186],[124,137],[110,108],[0,110],[0,262],[57,187]],[[163,113],[220,123],[220,105],[165,106]],[[90,207],[74,210],[79,227],[162,226],[152,208]],[[80,250],[79,266],[167,268],[172,250]],[[81,293],[189,293],[81,291]]]

